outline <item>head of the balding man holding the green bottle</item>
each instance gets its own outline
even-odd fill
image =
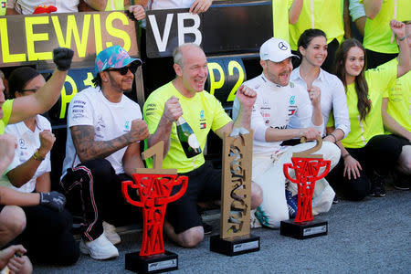
[[[205,87],[208,75],[207,59],[200,47],[186,45],[181,47],[182,64],[174,64],[180,92],[185,97],[193,97],[196,92],[201,92]]]

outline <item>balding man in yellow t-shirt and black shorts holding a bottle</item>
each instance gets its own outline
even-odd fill
[[[204,229],[197,212],[197,201],[220,198],[221,171],[205,163],[203,153],[187,158],[179,142],[174,121],[181,116],[191,126],[202,151],[210,130],[222,138],[233,128],[249,128],[250,114],[256,100],[256,92],[245,86],[237,90],[241,105],[236,121],[231,121],[221,103],[204,90],[208,74],[204,51],[194,44],[184,44],[174,50],[176,78],[158,90],[154,90],[143,107],[144,120],[150,133],[148,147],[164,142],[163,168],[176,168],[179,174],[189,178],[182,198],[167,206],[164,231],[168,237],[184,248],[194,248],[203,240]],[[149,167],[152,163],[147,163]],[[255,187],[255,186],[254,186]],[[257,198],[251,193],[251,207]],[[257,205],[258,206],[258,205]],[[257,207],[255,206],[255,207]]]

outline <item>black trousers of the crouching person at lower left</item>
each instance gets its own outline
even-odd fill
[[[26,229],[15,243],[27,249],[34,262],[71,265],[79,259],[79,245],[70,233],[72,217],[67,210],[55,211],[44,205],[23,206]]]

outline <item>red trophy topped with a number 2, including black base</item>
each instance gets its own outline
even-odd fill
[[[312,195],[315,182],[322,179],[330,172],[331,161],[323,160],[321,154],[312,154],[320,150],[322,139],[317,138],[317,144],[304,152],[293,153],[292,163],[283,166],[284,175],[290,182],[298,185],[297,215],[294,220],[281,221],[279,232],[283,236],[299,239],[326,235],[328,223],[320,219],[313,220]],[[320,173],[321,167],[325,170]],[[294,170],[295,179],[289,174],[289,169]]]

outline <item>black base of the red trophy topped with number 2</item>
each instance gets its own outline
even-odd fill
[[[294,223],[294,219],[281,221],[279,234],[287,237],[305,239],[327,235],[328,222],[320,219],[309,222]]]

